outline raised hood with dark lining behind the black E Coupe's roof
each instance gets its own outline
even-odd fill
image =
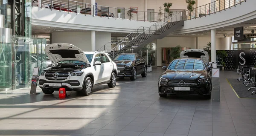
[[[204,63],[209,64],[209,54],[203,49],[186,49],[180,52],[180,58],[201,58]]]

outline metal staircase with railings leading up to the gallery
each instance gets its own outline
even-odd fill
[[[140,27],[120,41],[109,42],[99,50],[108,52],[112,58],[119,53],[138,52],[146,43],[154,39],[162,39],[175,29],[184,26],[183,12],[173,15],[169,19],[168,17],[170,16],[164,17],[163,22],[154,23],[149,27]]]

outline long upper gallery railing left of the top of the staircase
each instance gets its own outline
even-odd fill
[[[137,20],[137,21],[150,21],[150,22],[157,22],[159,18],[162,18],[164,15],[160,15],[158,12],[146,12],[146,11],[139,11],[134,9],[122,9],[122,8],[115,8],[110,6],[101,6],[101,5],[95,5],[90,3],[83,3],[75,0],[67,0],[67,2],[64,2],[63,0],[41,0],[41,2],[32,0],[32,6],[38,6],[48,9],[56,9],[59,11],[64,12],[74,12],[76,14],[85,14],[85,15],[93,15],[94,16],[100,16],[100,17],[108,17],[108,18],[120,18],[122,20],[129,19],[129,20]],[[93,8],[93,11],[91,13],[90,7]],[[97,9],[97,10],[96,10]],[[118,9],[121,10],[122,14],[118,13]],[[129,16],[127,13],[130,12],[133,14],[132,16]],[[147,14],[152,14],[150,18],[148,19]],[[118,16],[118,17],[117,17]],[[122,18],[121,18],[122,16]],[[152,18],[151,18],[152,17]]]

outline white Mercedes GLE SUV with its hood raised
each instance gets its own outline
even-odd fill
[[[106,52],[83,52],[68,43],[49,44],[44,51],[53,63],[39,77],[39,87],[45,94],[64,87],[90,95],[93,86],[116,86],[117,67]]]

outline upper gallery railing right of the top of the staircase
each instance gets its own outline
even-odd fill
[[[196,7],[192,12],[186,10],[185,20],[216,14],[216,12],[221,12],[223,10],[225,11],[226,9],[230,9],[231,7],[241,4],[242,2],[246,2],[246,0],[239,0],[238,2],[237,0],[216,0],[214,2]]]

